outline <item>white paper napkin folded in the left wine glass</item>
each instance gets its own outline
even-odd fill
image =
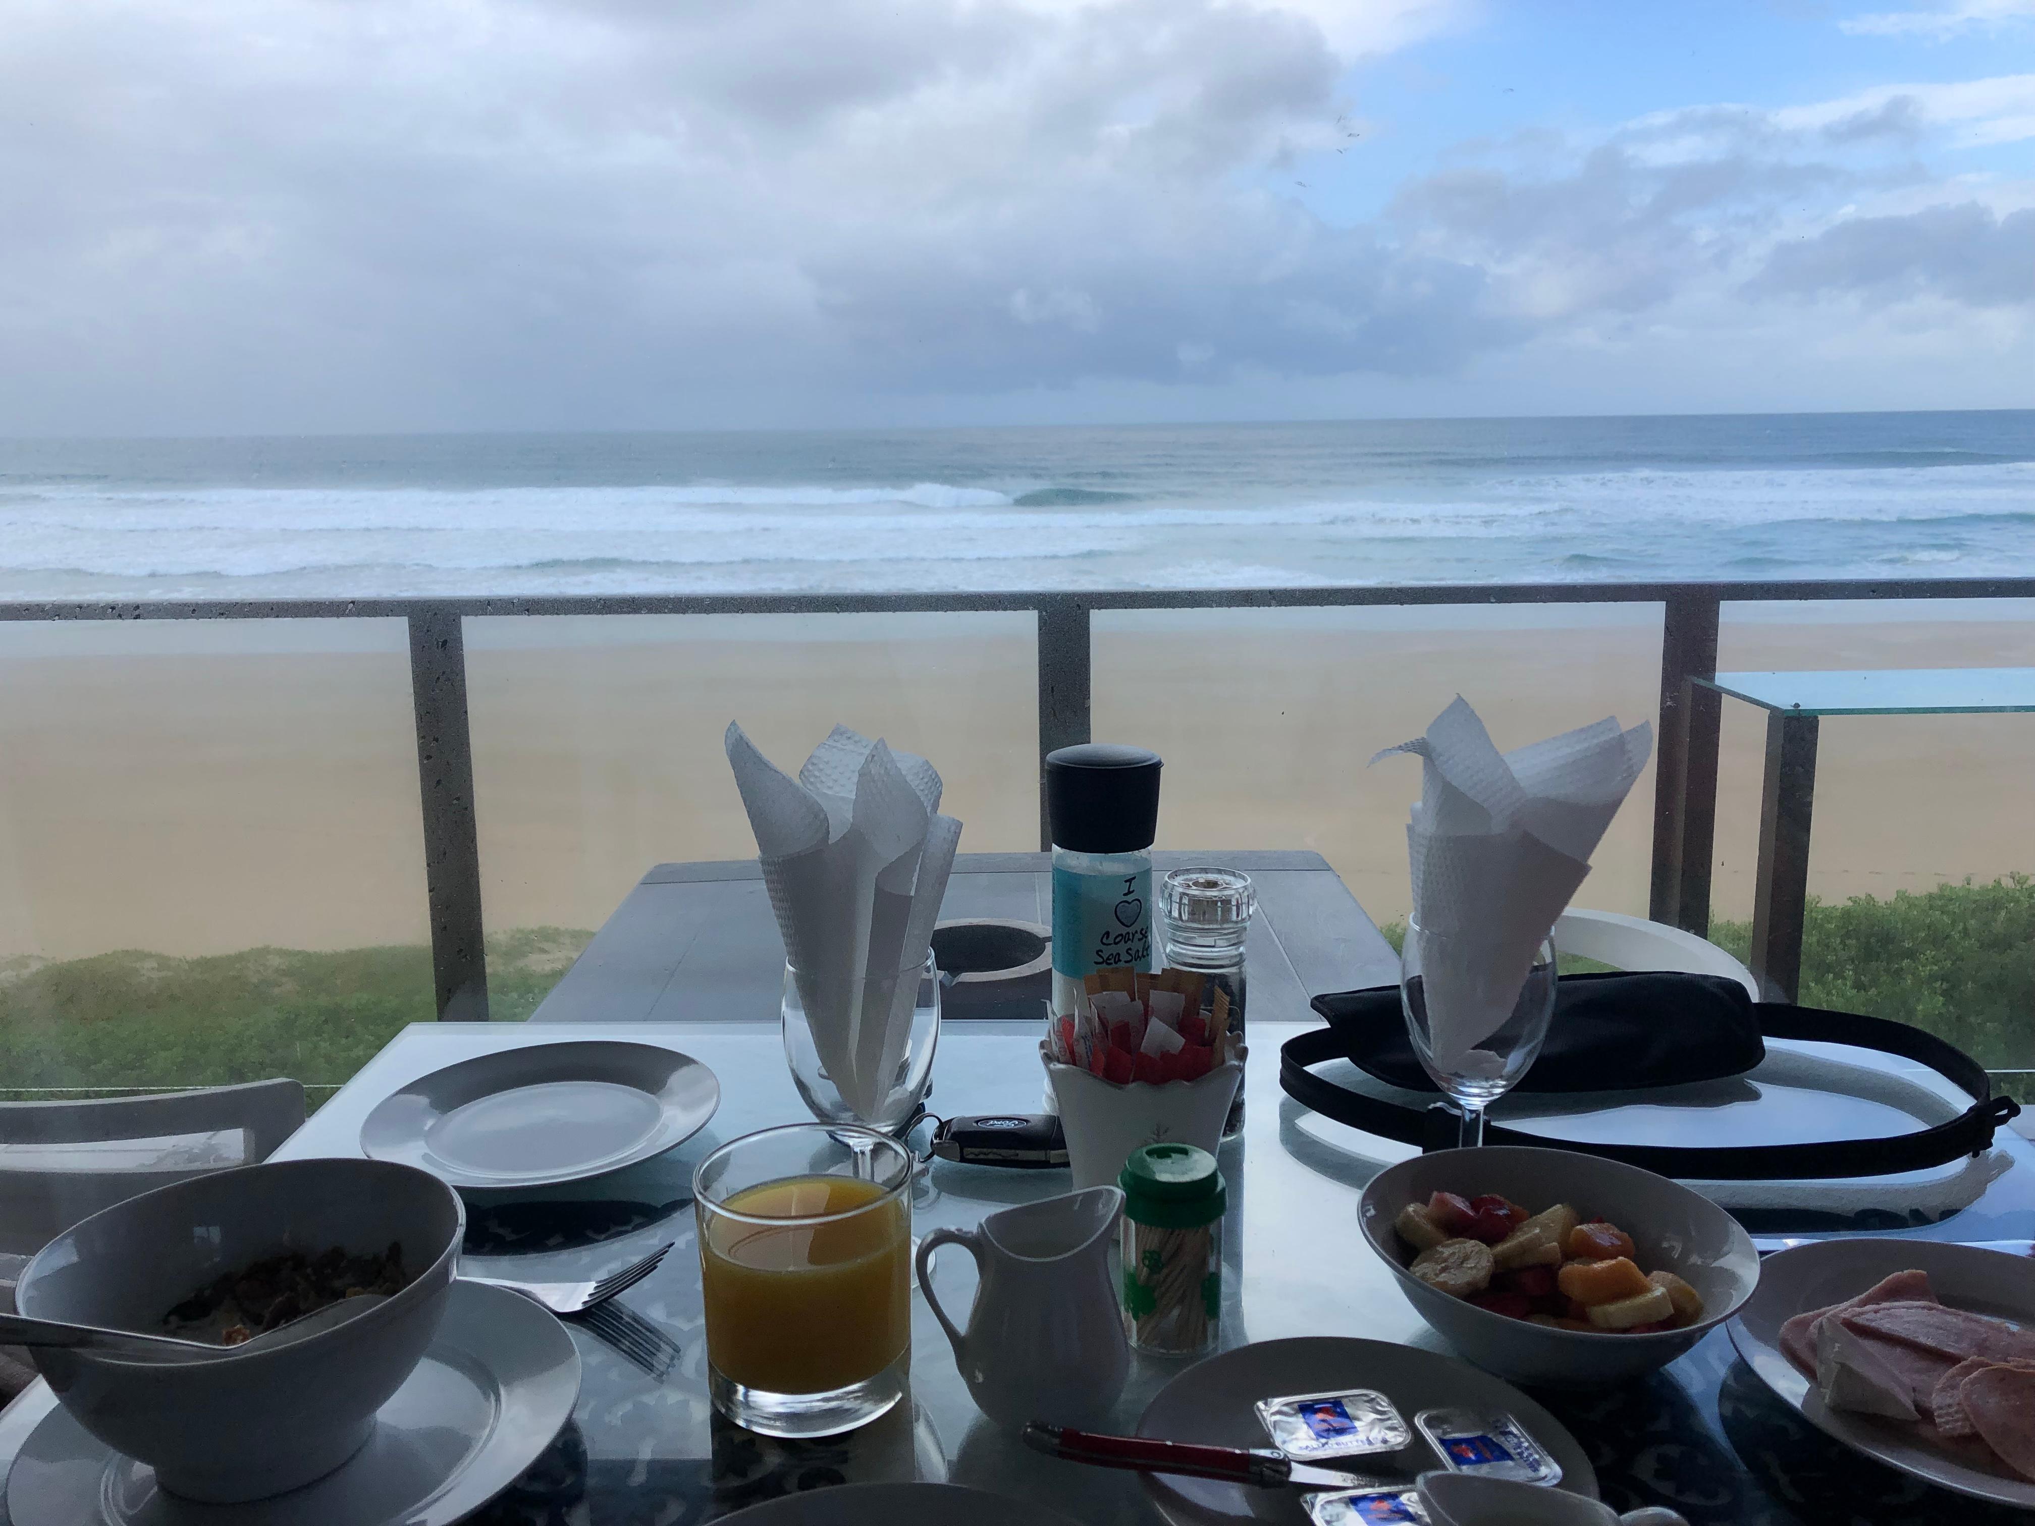
[[[849,1107],[871,1117],[912,1034],[961,822],[940,816],[932,763],[847,726],[796,779],[739,724],[724,741],[814,1048]]]

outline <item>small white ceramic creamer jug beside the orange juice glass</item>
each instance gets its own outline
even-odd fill
[[[1091,1186],[920,1241],[918,1286],[954,1345],[969,1394],[997,1424],[1095,1426],[1123,1392],[1131,1357],[1109,1282],[1121,1211],[1119,1188]],[[967,1249],[981,1274],[967,1331],[954,1329],[932,1292],[940,1245]]]

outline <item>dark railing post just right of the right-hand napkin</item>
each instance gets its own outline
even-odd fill
[[[1669,594],[1661,623],[1661,724],[1654,751],[1654,922],[1709,934],[1709,859],[1718,818],[1718,676],[1713,592]]]

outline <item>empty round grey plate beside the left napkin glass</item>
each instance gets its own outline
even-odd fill
[[[360,1150],[452,1186],[549,1186],[659,1156],[716,1107],[720,1082],[688,1054],[621,1040],[527,1044],[383,1099],[360,1125]]]

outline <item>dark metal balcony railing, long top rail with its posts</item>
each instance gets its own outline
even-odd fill
[[[480,842],[474,755],[466,718],[464,621],[554,614],[963,614],[1038,617],[1038,753],[1089,741],[1091,617],[1095,610],[1349,608],[1372,604],[1661,604],[1652,883],[1648,916],[1709,932],[1709,875],[1718,804],[1720,696],[1691,686],[1718,669],[1724,604],[2035,598],[2035,578],[1872,582],[1654,584],[1410,584],[1392,588],[1152,588],[954,594],[588,594],[501,598],[279,598],[0,602],[0,621],[330,621],[401,619],[409,625],[417,779],[423,800],[425,889],[438,1015],[488,1015],[480,918]],[[1040,789],[1040,846],[1046,836]]]

